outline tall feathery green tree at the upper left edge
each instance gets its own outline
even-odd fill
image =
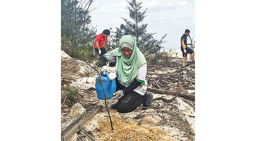
[[[61,46],[73,58],[93,56],[96,29],[89,15],[93,1],[61,0]]]

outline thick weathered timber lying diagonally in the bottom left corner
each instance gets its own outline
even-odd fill
[[[102,110],[102,108],[102,105],[98,105],[91,109],[91,111],[89,111],[88,113],[83,114],[83,116],[72,122],[67,128],[65,128],[61,132],[61,141],[67,141],[68,139],[70,139],[70,137],[72,137],[72,135],[79,128],[79,125],[85,124],[89,119],[91,119],[91,117],[93,117],[96,113]]]

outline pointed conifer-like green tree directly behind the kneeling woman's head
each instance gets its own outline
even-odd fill
[[[129,11],[129,16],[132,19],[127,20],[126,18],[122,18],[125,24],[121,24],[120,27],[116,27],[117,31],[113,32],[115,35],[113,36],[112,43],[116,47],[119,47],[119,39],[127,34],[130,34],[135,37],[137,47],[143,52],[145,55],[153,54],[160,51],[159,47],[156,47],[160,41],[153,38],[155,33],[147,33],[147,25],[143,24],[143,20],[146,17],[145,11],[141,8],[141,2],[136,2],[136,0],[128,1],[128,6],[126,7]],[[166,36],[166,35],[165,35]],[[163,42],[161,42],[163,43]]]

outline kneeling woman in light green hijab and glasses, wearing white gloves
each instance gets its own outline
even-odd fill
[[[100,56],[99,61],[102,62],[103,74],[108,70],[106,61],[116,62],[117,92],[114,93],[114,98],[121,98],[111,105],[111,108],[117,109],[120,113],[127,113],[141,104],[143,104],[142,110],[151,107],[152,94],[146,92],[147,61],[131,35],[122,36],[119,47]]]

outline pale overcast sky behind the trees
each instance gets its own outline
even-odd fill
[[[195,0],[138,0],[137,2],[142,2],[142,10],[147,9],[147,16],[143,21],[148,24],[147,33],[156,33],[154,38],[157,40],[167,33],[164,39],[167,42],[161,45],[165,47],[165,51],[180,49],[180,38],[186,29],[190,30],[190,36],[195,40]],[[92,11],[90,15],[97,34],[110,27],[112,31],[116,31],[115,27],[124,24],[120,17],[132,20],[128,9],[125,8],[127,5],[126,0],[95,0],[92,6],[98,9]]]

